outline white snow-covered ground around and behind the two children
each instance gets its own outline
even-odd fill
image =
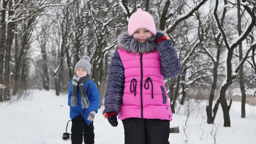
[[[33,90],[32,95],[13,103],[0,103],[0,144],[71,144],[63,141],[69,120],[67,95],[55,96],[55,91]],[[221,107],[215,124],[206,123],[206,101],[190,102],[187,124],[187,104],[178,105],[171,127],[179,126],[180,133],[170,134],[170,144],[255,144],[256,106],[246,105],[246,118],[240,118],[240,102],[233,102],[230,109],[231,127],[223,127]],[[124,144],[121,121],[112,127],[102,116],[102,109],[95,117],[95,144]],[[68,132],[71,129],[69,124]],[[185,133],[184,133],[184,129]],[[187,136],[186,136],[187,135]]]

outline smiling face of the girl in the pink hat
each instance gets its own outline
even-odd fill
[[[135,30],[132,36],[139,42],[143,43],[152,37],[152,33],[148,29],[139,28]]]

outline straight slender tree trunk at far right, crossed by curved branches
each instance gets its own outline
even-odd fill
[[[238,35],[241,36],[242,34],[242,28],[241,28],[241,14],[240,14],[240,0],[237,0],[237,17],[238,17]],[[243,49],[242,49],[242,42],[239,43],[239,61],[243,59]],[[241,104],[241,118],[245,118],[245,103],[246,103],[246,94],[245,94],[245,88],[243,83],[243,65],[239,68],[239,83],[240,83],[240,90],[242,93],[242,104]]]

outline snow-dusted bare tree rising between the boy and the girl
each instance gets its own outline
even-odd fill
[[[112,13],[112,9],[116,9],[116,5],[116,2],[108,2],[107,0],[101,3],[88,3],[88,14],[92,22],[89,25],[89,33],[92,33],[91,37],[93,40],[92,45],[90,45],[91,49],[89,49],[92,53],[92,79],[96,82],[99,89],[101,89],[103,82],[104,57],[109,50],[117,45],[117,39],[113,38],[112,35],[115,35],[118,31],[120,32],[121,27],[124,26],[121,24],[121,21],[118,21],[118,13],[113,17],[114,13]],[[100,7],[103,6],[104,9],[100,9]],[[105,92],[105,90],[103,92]],[[103,92],[100,92],[100,94]]]

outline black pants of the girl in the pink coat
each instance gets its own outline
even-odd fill
[[[125,144],[170,144],[170,121],[160,119],[126,118]]]

